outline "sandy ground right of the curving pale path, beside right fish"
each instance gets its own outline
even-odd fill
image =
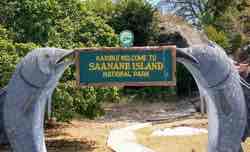
[[[196,115],[175,122],[140,129],[136,131],[136,136],[138,143],[153,149],[155,152],[207,152],[207,134],[174,137],[152,136],[152,132],[156,129],[180,126],[207,129],[207,125],[207,119]],[[242,146],[244,152],[250,152],[250,138]]]

